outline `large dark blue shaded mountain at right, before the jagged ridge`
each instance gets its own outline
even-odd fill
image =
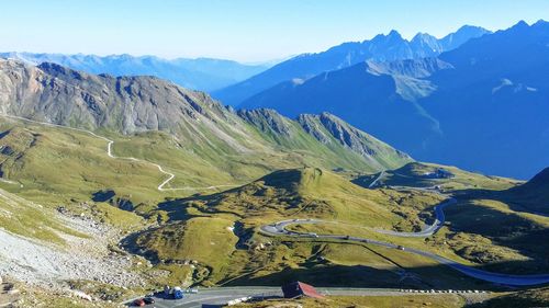
[[[549,166],[549,23],[448,42],[460,46],[284,81],[240,106],[327,111],[415,159],[490,174],[527,179]]]

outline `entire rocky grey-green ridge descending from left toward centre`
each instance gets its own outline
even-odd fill
[[[355,170],[411,161],[327,113],[293,121],[272,110],[237,112],[203,92],[156,77],[97,76],[56,64],[35,67],[0,59],[0,93],[2,114],[116,134],[166,132],[216,166],[229,155],[277,151],[303,151],[304,161],[317,157],[327,168]]]

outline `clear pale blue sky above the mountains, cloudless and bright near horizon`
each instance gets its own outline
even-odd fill
[[[261,61],[397,30],[549,19],[548,0],[2,0],[0,50]]]

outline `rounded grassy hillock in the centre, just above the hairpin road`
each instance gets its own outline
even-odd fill
[[[316,217],[391,227],[401,220],[395,214],[400,203],[422,196],[428,196],[421,201],[423,204],[441,199],[422,192],[365,190],[333,172],[303,168],[276,171],[238,189],[190,198],[184,204],[198,210],[232,213],[246,218]]]

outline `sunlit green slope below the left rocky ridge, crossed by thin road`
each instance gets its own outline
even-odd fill
[[[298,128],[280,144],[271,144],[256,132],[257,138],[246,141],[249,149],[244,152],[223,147],[215,138],[210,139],[212,145],[195,147],[190,137],[163,132],[134,136],[103,132],[114,140],[115,156],[159,163],[176,175],[166,187],[184,187],[159,193],[156,186],[166,174],[149,163],[109,158],[107,141],[100,138],[7,118],[0,122],[0,129],[2,179],[18,183],[4,186],[45,203],[85,202],[94,192],[113,190],[134,205],[150,208],[166,196],[222,191],[278,169],[321,166],[373,171],[378,168],[343,146],[329,148]]]

